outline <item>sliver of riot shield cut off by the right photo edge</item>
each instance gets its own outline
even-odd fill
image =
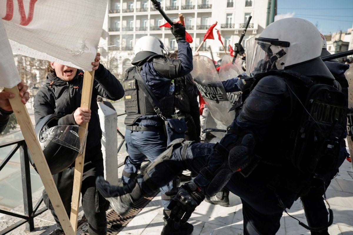
[[[351,159],[353,158],[353,64],[345,72],[348,81],[348,115],[347,115],[347,143]],[[352,162],[353,167],[353,162]]]

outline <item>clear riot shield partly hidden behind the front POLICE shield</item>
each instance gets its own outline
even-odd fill
[[[245,63],[244,60],[239,58],[235,59],[234,64],[233,57],[229,55],[225,55],[222,58],[221,66],[219,69],[219,77],[221,81],[226,81],[228,79],[236,78],[239,74],[244,73],[244,70],[241,68],[242,64]],[[227,96],[229,101],[234,105],[241,95],[241,92],[227,92]]]

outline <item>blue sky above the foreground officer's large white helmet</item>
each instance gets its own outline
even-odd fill
[[[353,27],[353,0],[277,0],[275,20],[286,17],[309,20],[323,35],[347,32]]]

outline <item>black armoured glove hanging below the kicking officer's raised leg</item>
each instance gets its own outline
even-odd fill
[[[186,223],[196,206],[200,205],[204,199],[205,194],[194,182],[191,181],[181,185],[177,195],[168,205],[168,209],[171,210],[169,218],[175,222]]]

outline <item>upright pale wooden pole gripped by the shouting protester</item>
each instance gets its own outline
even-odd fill
[[[90,109],[91,107],[93,80],[94,80],[94,70],[85,71],[83,74],[83,85],[82,85],[83,87],[82,87],[82,97],[81,97],[81,106],[80,106],[81,108]],[[84,123],[80,125],[80,127],[88,129],[88,123]],[[79,137],[80,137],[80,140],[82,140],[82,135],[80,135],[80,133],[79,133]],[[80,153],[78,154],[75,161],[75,171],[73,176],[70,222],[75,233],[77,231],[78,208],[80,204],[80,193],[81,193],[81,186],[82,186],[82,174],[83,174],[83,165],[85,161],[85,152],[86,152],[86,147],[84,148],[82,154]],[[91,209],[94,210],[94,208],[91,208]]]

